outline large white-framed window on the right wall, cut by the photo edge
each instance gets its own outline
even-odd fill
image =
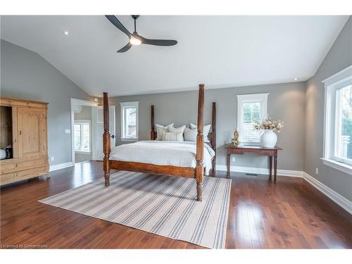
[[[323,163],[352,173],[352,66],[324,80]]]

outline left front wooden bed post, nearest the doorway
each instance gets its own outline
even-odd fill
[[[109,103],[108,103],[108,93],[103,93],[103,117],[104,117],[104,133],[103,133],[103,170],[105,178],[105,186],[110,184],[110,132],[109,132]]]

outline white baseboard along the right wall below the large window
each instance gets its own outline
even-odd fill
[[[306,180],[313,187],[321,191],[327,197],[329,197],[329,199],[332,199],[332,201],[337,203],[339,206],[344,208],[348,213],[351,213],[352,215],[352,201],[349,201],[344,196],[341,196],[333,189],[330,189],[325,184],[322,184],[322,182],[319,182],[314,177],[308,175],[306,172],[303,172],[303,179]]]

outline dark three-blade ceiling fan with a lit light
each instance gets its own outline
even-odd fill
[[[127,34],[127,37],[130,39],[130,42],[128,42],[126,46],[119,49],[117,52],[128,51],[131,49],[131,46],[139,44],[149,44],[155,46],[173,46],[177,44],[177,41],[172,39],[146,39],[145,37],[139,35],[136,31],[136,20],[139,18],[139,15],[132,15],[132,18],[134,19],[134,32],[132,34],[122,25],[122,23],[120,23],[115,15],[106,15],[106,18],[108,18],[108,20],[113,23],[115,27]]]

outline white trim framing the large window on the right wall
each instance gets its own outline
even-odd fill
[[[324,144],[322,153],[322,163],[334,169],[352,175],[352,165],[335,160],[334,157],[334,134],[335,133],[335,111],[334,104],[336,103],[332,98],[335,98],[336,86],[341,82],[346,82],[352,78],[352,65],[344,70],[335,73],[334,75],[323,80],[325,86],[325,102],[324,102]]]

